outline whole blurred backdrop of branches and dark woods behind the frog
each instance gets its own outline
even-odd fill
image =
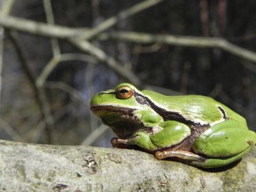
[[[109,147],[122,82],[212,97],[256,130],[256,1],[0,0],[0,139]]]

